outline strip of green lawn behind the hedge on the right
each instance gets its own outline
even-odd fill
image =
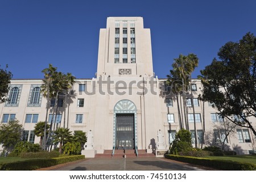
[[[256,155],[208,156],[207,159],[232,160],[235,162],[256,164]]]

